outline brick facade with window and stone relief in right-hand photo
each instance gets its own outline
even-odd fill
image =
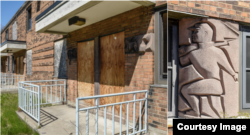
[[[168,0],[167,4],[168,48],[173,48],[176,67],[168,71],[178,76],[173,80],[177,83],[168,83],[168,118],[249,112],[250,2]]]

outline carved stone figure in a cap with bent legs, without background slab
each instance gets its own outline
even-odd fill
[[[182,111],[186,111],[186,115],[194,117],[201,117],[201,113],[210,117],[218,117],[222,111],[221,106],[223,106],[220,97],[216,98],[223,93],[221,83],[223,79],[220,72],[223,69],[235,81],[238,80],[238,74],[233,70],[222,49],[215,47],[213,42],[215,32],[209,23],[196,23],[189,30],[192,31],[193,44],[179,49],[180,64],[182,66],[191,64],[202,77],[199,77],[198,81],[192,80],[181,88],[180,93],[191,107],[186,107]],[[185,77],[188,75],[183,74],[181,78],[190,78]],[[208,107],[212,108],[210,112]]]

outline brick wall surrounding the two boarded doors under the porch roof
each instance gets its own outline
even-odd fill
[[[164,4],[164,2],[162,3]],[[125,32],[125,38],[136,35],[154,32],[154,16],[151,7],[139,7],[123,14],[97,22],[90,26],[81,28],[68,34],[67,48],[77,47],[77,41],[94,38],[99,35]],[[77,95],[77,60],[72,60],[69,65],[67,59],[67,100],[74,103]],[[154,84],[154,53],[145,52],[145,54],[126,54],[125,55],[125,91],[149,90],[150,85]],[[153,128],[167,131],[167,90],[164,88],[155,88],[153,99],[149,102],[152,108],[149,109],[149,125]],[[125,97],[125,100],[131,100],[132,95]],[[140,94],[137,98],[144,98]],[[132,108],[130,105],[130,121],[132,121]],[[154,110],[156,109],[156,110]],[[139,103],[136,110],[139,110]],[[138,118],[138,113],[136,115]],[[137,119],[136,119],[137,121]],[[166,132],[164,133],[166,134]]]

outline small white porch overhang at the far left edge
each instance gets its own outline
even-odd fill
[[[0,53],[15,53],[20,50],[26,50],[26,41],[6,40],[0,44]]]

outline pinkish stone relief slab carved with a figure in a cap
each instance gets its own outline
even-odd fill
[[[179,116],[237,115],[237,24],[189,18],[180,21],[179,33]]]

